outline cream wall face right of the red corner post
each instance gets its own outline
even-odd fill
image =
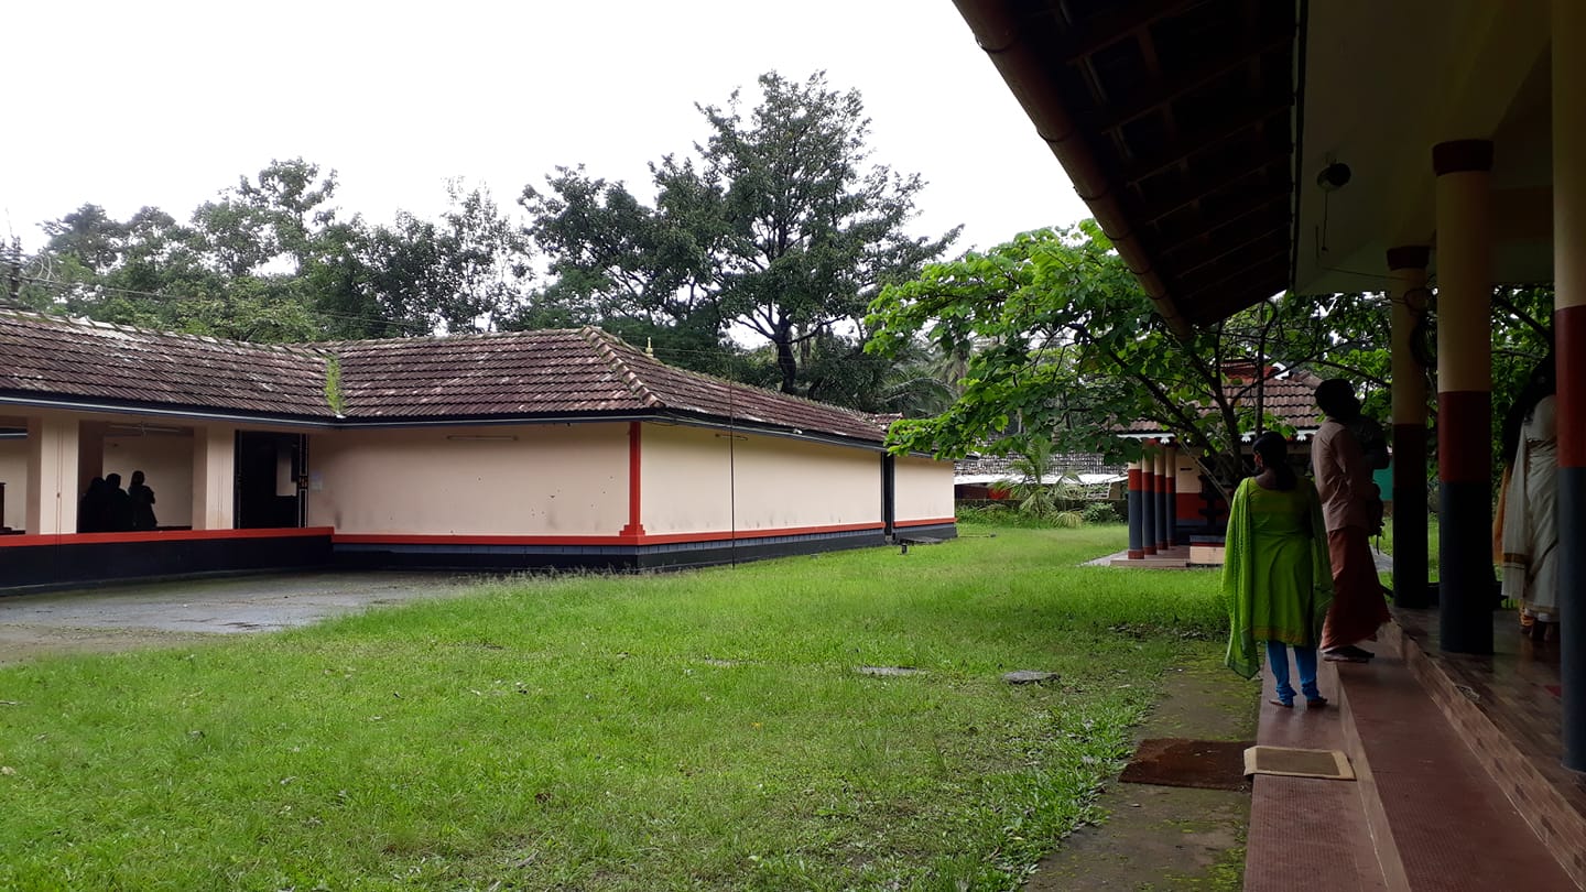
[[[882,522],[880,456],[871,449],[660,424],[644,425],[642,443],[649,535]],[[948,505],[952,497],[948,468]]]

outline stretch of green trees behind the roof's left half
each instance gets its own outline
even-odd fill
[[[198,206],[127,222],[84,205],[43,224],[25,305],[147,329],[247,341],[314,341],[495,327],[520,313],[527,235],[488,192],[450,187],[441,221],[341,221],[336,173],[271,162]]]

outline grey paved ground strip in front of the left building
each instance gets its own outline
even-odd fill
[[[441,573],[293,573],[5,595],[0,665],[43,654],[273,632],[341,613],[444,597],[477,581]]]

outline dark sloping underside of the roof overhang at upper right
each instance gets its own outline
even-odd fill
[[[956,0],[1178,330],[1293,278],[1289,0]]]

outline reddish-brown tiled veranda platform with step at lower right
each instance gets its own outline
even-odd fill
[[[1396,617],[1370,663],[1323,663],[1332,706],[1262,705],[1259,743],[1343,749],[1359,781],[1258,776],[1245,889],[1586,889],[1556,652],[1508,613],[1491,657],[1440,654],[1431,611]]]

